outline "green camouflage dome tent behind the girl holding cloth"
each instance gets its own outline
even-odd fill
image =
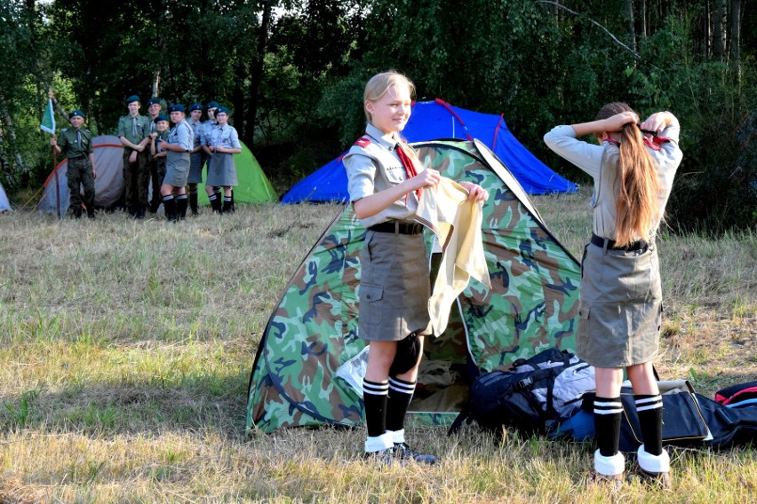
[[[453,305],[447,330],[429,338],[410,404],[410,419],[449,423],[476,374],[547,347],[575,347],[580,266],[478,140],[415,147],[427,166],[490,193],[482,235],[492,287],[472,281]],[[259,343],[248,429],[363,422],[365,345],[357,337],[357,289],[364,235],[347,206],[295,272]]]

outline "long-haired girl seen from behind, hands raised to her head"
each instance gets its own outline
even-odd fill
[[[643,445],[636,474],[670,486],[662,447],[662,398],[652,361],[659,351],[662,292],[655,237],[681,163],[681,128],[669,112],[639,115],[625,103],[602,107],[592,122],[557,126],[544,140],[594,178],[593,234],[581,263],[578,356],[596,368],[594,453],[597,482],[619,487],[623,370],[633,385]],[[594,135],[600,145],[578,138]]]

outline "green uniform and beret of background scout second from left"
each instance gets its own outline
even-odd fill
[[[139,102],[139,97],[133,95],[126,98],[126,105]],[[143,115],[126,114],[118,120],[118,138],[126,138],[134,145],[139,145],[145,138],[145,130],[149,128],[149,120]],[[137,153],[137,161],[131,163],[129,158],[134,150],[124,145],[124,183],[126,185],[126,208],[131,217],[143,218],[147,210],[147,188],[150,184],[150,170],[147,165],[147,154]]]

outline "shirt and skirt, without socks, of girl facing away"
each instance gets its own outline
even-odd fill
[[[658,136],[664,138],[661,145],[649,148],[657,164],[661,210],[683,157],[678,146],[680,130],[678,122],[673,122]],[[653,360],[659,350],[662,312],[657,247],[654,241],[614,247],[618,146],[586,144],[570,126],[555,127],[545,141],[555,153],[594,177],[593,236],[582,264],[578,356],[597,367],[626,367]],[[654,231],[651,234],[654,237]]]

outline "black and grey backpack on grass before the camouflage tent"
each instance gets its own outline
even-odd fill
[[[509,371],[476,378],[449,434],[464,421],[495,432],[510,427],[526,435],[547,434],[578,412],[587,390],[594,390],[593,366],[567,350],[544,350],[516,360]]]

